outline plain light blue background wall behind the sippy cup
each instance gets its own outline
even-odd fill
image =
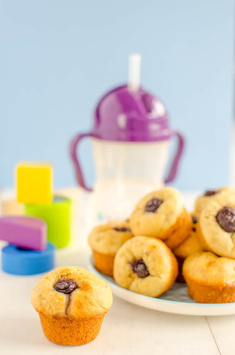
[[[163,99],[187,149],[175,186],[228,182],[233,1],[1,1],[0,187],[18,160],[50,160],[75,184],[68,143],[142,54],[142,85]],[[89,143],[81,149],[88,182]]]

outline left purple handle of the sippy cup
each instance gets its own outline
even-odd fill
[[[93,137],[93,136],[94,135],[92,133],[78,134],[77,136],[73,137],[73,139],[70,143],[70,156],[71,156],[73,164],[75,166],[75,173],[76,173],[76,179],[77,179],[78,185],[80,185],[81,187],[83,187],[84,190],[87,190],[87,191],[92,191],[92,189],[87,187],[87,185],[84,181],[82,169],[81,169],[81,164],[77,158],[77,145],[78,145],[78,143],[80,143],[80,141],[83,138]]]

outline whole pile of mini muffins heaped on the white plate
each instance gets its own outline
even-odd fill
[[[206,191],[192,214],[179,191],[144,196],[124,222],[88,237],[95,268],[118,285],[157,297],[177,280],[197,302],[235,301],[235,189]]]

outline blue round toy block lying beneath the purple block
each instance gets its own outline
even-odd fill
[[[47,243],[44,251],[21,249],[7,245],[2,249],[2,270],[14,275],[34,275],[54,268],[55,246]]]

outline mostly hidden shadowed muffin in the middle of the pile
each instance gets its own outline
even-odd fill
[[[173,250],[179,267],[179,273],[176,279],[178,282],[185,282],[185,279],[182,275],[182,266],[186,257],[192,253],[203,250],[197,236],[197,217],[195,215],[192,215],[192,223],[192,228],[187,239],[185,239],[182,244]]]

